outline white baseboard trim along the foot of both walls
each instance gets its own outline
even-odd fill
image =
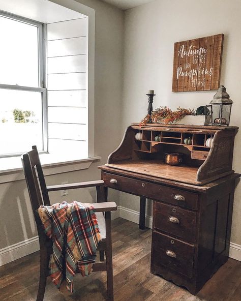
[[[132,210],[123,206],[118,206],[117,210],[111,213],[111,219],[114,220],[118,217],[139,224],[139,212],[136,210]],[[146,215],[146,227],[152,229],[152,224],[153,217]],[[0,266],[17,260],[26,255],[37,252],[38,250],[38,236],[25,239],[20,243],[6,247],[4,249],[0,249]],[[234,243],[230,243],[229,257],[241,261],[241,246]]]

